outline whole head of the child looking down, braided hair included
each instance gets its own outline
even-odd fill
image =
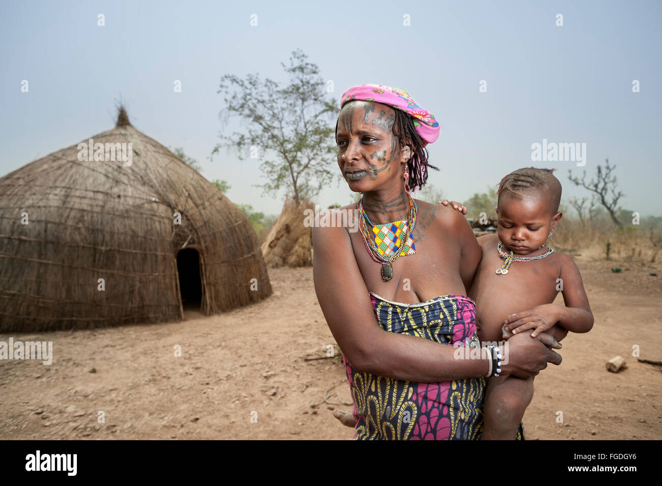
[[[506,175],[498,187],[498,237],[516,255],[536,251],[547,241],[561,214],[561,182],[555,169],[526,167]]]

